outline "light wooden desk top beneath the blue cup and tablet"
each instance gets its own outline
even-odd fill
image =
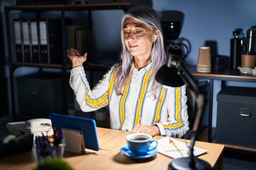
[[[121,130],[110,130],[97,128],[100,147],[102,150],[95,152],[87,149],[87,154],[73,154],[65,152],[64,160],[74,169],[167,169],[170,157],[163,154],[156,154],[150,161],[134,161],[124,157],[119,152],[119,148],[126,144],[125,136],[129,132]],[[154,139],[161,139],[160,136]],[[214,169],[222,169],[224,145],[207,142],[196,142],[196,146],[208,150],[208,154],[203,154],[199,158],[205,160]],[[110,151],[112,150],[112,151]],[[11,157],[0,159],[0,169],[33,169],[36,166],[33,152],[16,154]]]

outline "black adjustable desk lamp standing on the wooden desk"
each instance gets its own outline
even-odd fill
[[[191,74],[185,67],[182,60],[183,52],[178,46],[169,46],[166,52],[167,63],[164,64],[156,73],[156,81],[163,84],[165,87],[176,87],[186,84],[186,88],[191,91],[193,98],[196,101],[196,118],[191,130],[191,145],[188,147],[188,157],[174,159],[169,164],[171,169],[212,169],[208,162],[198,159],[193,155],[193,146],[195,145],[198,126],[201,120],[204,106],[204,96],[201,93],[198,85],[193,80]]]

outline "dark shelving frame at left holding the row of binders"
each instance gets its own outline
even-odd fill
[[[29,5],[29,6],[4,6],[4,15],[5,15],[5,21],[6,21],[6,36],[7,36],[7,44],[9,46],[8,49],[8,55],[9,55],[9,72],[11,77],[14,77],[14,72],[15,69],[17,69],[18,67],[38,67],[38,68],[55,68],[55,69],[61,69],[61,72],[63,73],[62,78],[63,78],[63,82],[67,81],[68,82],[68,75],[66,74],[68,71],[70,71],[70,69],[72,69],[72,66],[70,64],[70,61],[68,60],[68,57],[65,55],[65,49],[67,49],[67,40],[65,37],[65,17],[67,17],[65,14],[66,12],[74,12],[78,14],[82,11],[88,11],[88,13],[85,13],[85,16],[88,17],[88,21],[87,21],[87,27],[90,28],[92,25],[92,14],[91,11],[94,10],[122,10],[122,11],[127,11],[128,8],[130,6],[130,3],[105,3],[105,4],[74,4],[74,5],[70,5],[70,4],[48,4],[48,5]],[[41,18],[52,18],[52,16],[48,16],[46,14],[48,14],[48,11],[58,11],[60,13],[58,13],[58,18],[60,18],[60,24],[61,24],[61,36],[63,38],[63,40],[61,40],[60,45],[61,48],[59,50],[61,57],[61,60],[58,60],[57,63],[59,64],[49,64],[49,63],[32,63],[32,62],[16,62],[16,61],[24,61],[24,60],[17,60],[17,57],[15,55],[16,50],[15,50],[15,44],[11,45],[11,43],[14,43],[14,29],[13,29],[13,22],[12,21],[16,16],[16,12],[18,13],[24,13],[24,14],[29,14],[28,16],[24,15],[24,18],[28,19],[28,18],[33,18],[33,19],[41,19]],[[35,12],[35,16],[30,15],[31,12]],[[69,14],[69,13],[68,13]],[[44,16],[46,15],[46,16]],[[20,16],[21,17],[21,16]],[[73,17],[73,18],[72,18]],[[70,19],[77,19],[75,16],[72,16]],[[22,18],[22,17],[21,17]],[[83,17],[82,17],[83,18]],[[15,18],[16,19],[16,18]],[[17,18],[18,19],[18,18]],[[85,25],[85,23],[80,23],[81,25]],[[21,29],[21,28],[20,28]],[[37,28],[38,30],[38,28]],[[57,29],[55,29],[57,30]],[[13,36],[11,36],[13,35]],[[56,35],[56,34],[55,34]],[[38,35],[38,40],[40,40],[40,36]],[[59,40],[58,38],[56,38],[56,40]],[[23,46],[24,44],[21,43],[21,46]],[[41,45],[41,43],[39,43],[39,45]],[[31,48],[31,45],[30,45]],[[57,48],[56,48],[57,49]],[[59,48],[58,48],[59,49]],[[40,48],[39,48],[40,50]],[[100,52],[98,52],[99,54],[101,54]],[[96,55],[98,55],[98,53]],[[103,54],[109,54],[104,52]],[[111,53],[112,54],[112,53]],[[14,55],[14,56],[11,56]],[[110,56],[110,55],[108,55]],[[89,61],[87,61],[84,64],[84,68],[85,70],[90,70],[90,78],[93,76],[92,72],[106,72],[109,68],[110,68],[110,64],[112,64],[112,60],[110,60],[110,58],[105,57],[105,60],[107,59],[107,64],[105,64],[105,62],[102,62],[103,64],[97,64],[97,63],[90,63]],[[115,55],[114,55],[115,56]],[[15,59],[16,57],[16,59]],[[41,57],[39,55],[39,57]],[[64,58],[66,57],[66,58]],[[97,56],[96,56],[97,57]],[[100,57],[102,57],[100,55]],[[15,62],[14,62],[15,61]],[[28,61],[28,60],[26,60]],[[33,60],[36,61],[36,60]],[[42,60],[39,60],[42,61]],[[60,62],[59,62],[60,61]],[[44,70],[40,70],[40,72],[44,72]],[[9,80],[9,88],[11,89],[11,102],[10,102],[10,112],[11,112],[11,116],[13,118],[17,117],[17,118],[21,118],[21,115],[16,116],[16,101],[14,100],[14,98],[16,98],[16,94],[14,92],[14,79],[10,79]],[[63,83],[63,114],[67,114],[68,112],[68,99],[73,98],[68,96],[70,94],[68,94],[67,89],[70,89],[68,87],[68,83]],[[73,93],[72,93],[73,95]],[[12,118],[11,117],[11,118]]]

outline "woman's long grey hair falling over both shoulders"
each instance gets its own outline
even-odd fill
[[[122,91],[129,77],[129,72],[132,69],[131,62],[134,62],[134,57],[129,53],[127,47],[124,44],[123,28],[124,21],[127,18],[133,18],[134,20],[144,23],[146,26],[149,26],[149,28],[151,28],[152,33],[154,33],[156,30],[159,30],[159,36],[157,36],[156,40],[154,41],[153,49],[151,52],[151,62],[154,69],[154,72],[151,76],[151,80],[153,80],[153,83],[151,85],[151,89],[148,89],[147,91],[150,92],[154,96],[154,98],[156,98],[157,92],[159,91],[159,89],[161,89],[162,86],[154,79],[154,77],[156,76],[156,72],[159,70],[159,68],[166,63],[166,53],[164,51],[164,38],[163,34],[161,33],[161,23],[159,21],[157,13],[156,11],[154,11],[153,8],[145,6],[134,7],[122,17],[122,52],[120,54],[122,63],[117,70],[117,75],[114,81],[114,89],[115,91],[117,91],[117,95],[122,95]]]

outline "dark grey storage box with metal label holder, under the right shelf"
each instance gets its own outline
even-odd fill
[[[225,87],[217,101],[216,142],[256,147],[256,88]]]

